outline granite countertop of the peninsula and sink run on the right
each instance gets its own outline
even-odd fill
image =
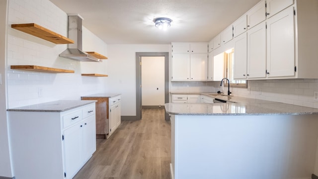
[[[171,92],[171,94],[203,94],[227,100],[227,103],[166,103],[165,110],[175,115],[303,115],[318,114],[317,108],[285,104],[239,96],[218,96],[213,92]]]

